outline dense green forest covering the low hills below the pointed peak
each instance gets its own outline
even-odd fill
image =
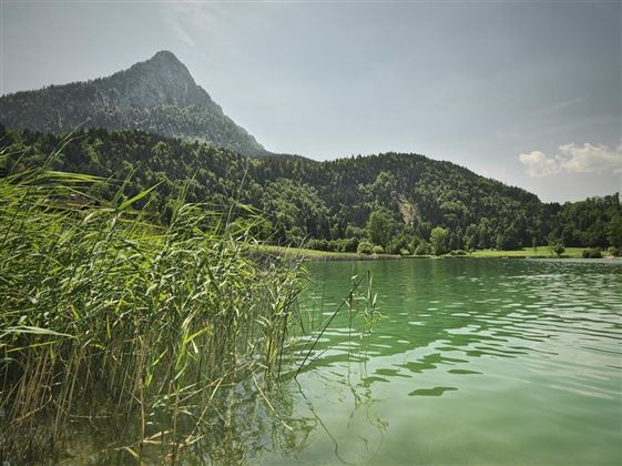
[[[418,154],[385,153],[316,162],[299,156],[249,158],[198,141],[141,131],[84,130],[69,139],[0,126],[10,154],[3,173],[47,163],[106,179],[94,197],[124,184],[160,221],[175,202],[236,203],[264,213],[257,232],[274,244],[344,252],[446,253],[511,250],[547,243],[622,246],[619,194],[542,203],[519,188]]]

